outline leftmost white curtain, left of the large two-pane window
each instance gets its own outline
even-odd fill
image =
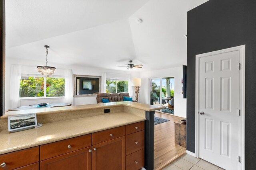
[[[10,109],[20,106],[21,66],[11,65],[10,74]]]

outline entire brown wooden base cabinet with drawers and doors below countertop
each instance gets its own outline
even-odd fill
[[[144,137],[142,121],[2,154],[0,170],[138,170]]]

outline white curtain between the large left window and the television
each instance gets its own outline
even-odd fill
[[[73,73],[71,69],[65,70],[65,103],[73,105]]]

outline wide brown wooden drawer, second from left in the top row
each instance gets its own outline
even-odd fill
[[[83,135],[40,146],[40,160],[92,146],[92,135]]]

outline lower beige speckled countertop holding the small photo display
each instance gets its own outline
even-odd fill
[[[83,105],[84,107],[92,108],[99,106],[120,105],[119,102],[100,104],[100,105]],[[134,103],[134,102],[131,102]],[[144,106],[143,104],[122,103],[121,105],[130,105],[134,107],[144,108],[151,111],[155,107]],[[68,106],[70,109],[79,109],[83,106]],[[50,108],[56,109],[56,108]],[[62,107],[57,108],[62,109]],[[44,110],[44,109],[43,109]],[[40,111],[42,112],[42,110]],[[27,112],[26,112],[27,113]],[[80,119],[71,119],[66,121],[59,121],[54,123],[44,124],[40,128],[33,128],[26,131],[10,133],[8,130],[0,131],[0,154],[13,152],[16,150],[26,149],[47,143],[61,141],[64,139],[86,135],[97,131],[111,129],[131,123],[145,121],[146,118],[140,117],[131,113],[118,112],[106,115],[98,115],[92,117],[85,117]]]

